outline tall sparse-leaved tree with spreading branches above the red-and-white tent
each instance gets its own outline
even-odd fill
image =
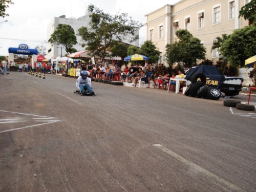
[[[82,46],[87,46],[87,50],[100,55],[102,60],[113,41],[121,42],[129,38],[130,42],[134,42],[139,38],[136,32],[142,27],[142,24],[132,20],[127,13],[110,15],[94,5],[90,5],[88,10],[92,12],[90,28],[81,27],[77,34],[84,41]]]

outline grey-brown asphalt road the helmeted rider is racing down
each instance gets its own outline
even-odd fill
[[[0,191],[256,189],[256,112],[224,98],[100,82],[86,97],[50,74],[0,82]]]

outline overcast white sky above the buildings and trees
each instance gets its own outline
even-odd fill
[[[145,15],[166,4],[173,5],[181,0],[12,0],[6,13],[9,16],[0,17],[0,56],[8,56],[10,47],[17,48],[27,44],[31,49],[45,45],[47,41],[47,26],[54,17],[66,15],[81,17],[85,15],[88,5],[93,4],[103,12],[115,15],[128,13],[134,20],[145,23]],[[140,30],[140,43],[145,40],[145,27]]]

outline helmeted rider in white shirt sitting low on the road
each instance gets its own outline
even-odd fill
[[[81,72],[81,76],[76,80],[76,87],[80,91],[81,95],[95,95],[91,88],[91,78],[88,77],[87,71]]]

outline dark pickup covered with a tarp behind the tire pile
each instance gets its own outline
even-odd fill
[[[242,77],[221,75],[216,66],[198,66],[185,72],[187,83],[195,83],[198,79],[209,88],[216,88],[226,96],[236,96],[242,91]]]

